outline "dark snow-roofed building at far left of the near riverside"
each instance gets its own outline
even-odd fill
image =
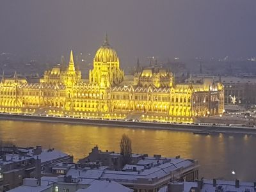
[[[41,170],[44,172],[52,163],[73,161],[72,156],[54,149],[44,150],[41,146],[1,147],[0,152],[0,182],[3,184],[3,191],[22,185],[24,178],[40,179]]]

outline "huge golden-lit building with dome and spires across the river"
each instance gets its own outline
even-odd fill
[[[156,65],[125,79],[116,51],[106,37],[93,59],[89,79],[81,78],[73,53],[67,69],[44,72],[38,83],[17,76],[1,79],[0,111],[81,118],[115,118],[163,122],[191,122],[195,116],[220,115],[223,86],[204,78],[175,83],[174,74]]]

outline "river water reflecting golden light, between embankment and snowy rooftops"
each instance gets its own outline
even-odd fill
[[[205,179],[256,180],[256,136],[198,136],[182,131],[0,120],[0,140],[23,147],[54,147],[72,154],[75,160],[87,155],[95,145],[118,152],[124,133],[131,138],[134,153],[198,159],[200,175]],[[236,175],[231,174],[232,170]]]

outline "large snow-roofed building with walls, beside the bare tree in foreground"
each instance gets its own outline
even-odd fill
[[[115,152],[102,152],[97,147],[92,149],[88,157],[79,160],[81,169],[70,168],[67,175],[72,178],[114,180],[134,191],[151,190],[157,191],[165,186],[170,180],[198,179],[198,161],[161,157],[154,155],[134,154],[132,164],[121,166],[120,154]],[[90,168],[88,163],[99,164],[98,167]],[[100,166],[102,163],[102,166]],[[120,170],[120,171],[116,171]],[[121,171],[122,170],[122,171]],[[60,176],[63,177],[63,176]]]

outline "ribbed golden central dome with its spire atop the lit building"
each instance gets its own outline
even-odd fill
[[[108,43],[107,35],[104,40],[104,44],[96,52],[94,60],[96,62],[118,61],[118,56],[116,54],[115,49],[113,49]]]

